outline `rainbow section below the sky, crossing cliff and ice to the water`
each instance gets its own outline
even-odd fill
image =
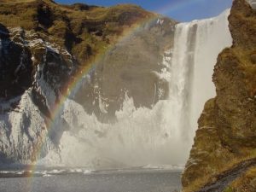
[[[145,26],[148,23],[152,23],[154,21],[156,22],[156,20],[160,17],[161,17],[160,15],[151,14],[143,19],[137,20],[137,22],[134,25],[125,29],[122,35],[119,36],[118,40],[116,41],[116,44],[119,42],[125,41],[127,38],[130,38],[134,33],[138,32],[142,26]],[[102,61],[104,55],[106,55],[108,51],[113,49],[113,47],[114,47],[114,44],[109,45],[108,48],[106,48],[104,51],[96,55],[96,57],[92,59],[87,65],[84,65],[84,67],[82,67],[79,70],[79,72],[75,73],[73,75],[73,79],[67,82],[67,84],[64,86],[65,90],[60,94],[59,98],[55,102],[55,105],[50,109],[51,114],[49,119],[45,120],[48,133],[49,131],[54,129],[57,123],[56,119],[58,119],[58,117],[61,115],[64,108],[64,104],[67,101],[67,98],[79,90],[84,76],[90,73],[90,71],[96,67],[97,63]],[[44,143],[47,139],[47,136],[48,134],[41,135],[40,139],[38,139],[39,140],[38,143],[33,148],[32,160],[34,160],[34,162],[30,166],[26,167],[26,170],[27,170],[26,172],[28,173],[28,177],[32,178],[34,176],[34,172],[37,167],[37,160],[38,160],[38,157],[40,157],[40,154],[44,147]],[[29,183],[31,184],[29,184],[28,186],[32,187],[32,179],[30,180]],[[28,189],[27,191],[31,191],[31,189]]]

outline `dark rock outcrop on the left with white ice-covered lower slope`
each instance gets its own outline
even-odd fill
[[[44,155],[61,134],[62,128],[47,137],[46,122],[76,62],[66,49],[35,32],[1,26],[0,39],[1,160],[29,163],[43,138]]]

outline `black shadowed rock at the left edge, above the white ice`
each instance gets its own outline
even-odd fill
[[[10,39],[9,30],[0,28],[0,98],[20,96],[32,85],[31,52],[22,40],[22,31]]]

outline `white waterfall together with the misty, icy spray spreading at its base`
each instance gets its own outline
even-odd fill
[[[203,105],[215,95],[212,73],[217,55],[232,42],[229,13],[177,25],[174,48],[165,53],[158,73],[169,82],[169,97],[152,109],[135,108],[126,96],[116,112],[117,122],[102,124],[67,100],[62,117],[72,130],[61,137],[60,155],[50,152],[43,162],[94,168],[183,165]]]

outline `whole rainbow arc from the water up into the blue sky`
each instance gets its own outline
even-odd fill
[[[164,7],[158,9],[156,12],[160,13],[161,15],[168,15],[172,13],[172,11],[177,11],[179,9],[183,9],[185,6],[188,6],[192,3],[199,3],[202,1],[206,0],[179,0],[179,1],[174,1],[168,4],[165,4]],[[137,20],[136,24],[133,26],[125,29],[123,34],[119,36],[119,39],[117,40],[116,43],[125,41],[127,38],[130,38],[134,33],[140,30],[142,26],[147,25],[148,23],[151,23],[158,18],[160,18],[160,15],[157,14],[152,14],[148,17],[145,17],[143,19]],[[88,73],[90,73],[91,70],[93,70],[97,63],[102,61],[104,55],[108,54],[108,51],[113,49],[114,44],[109,45],[108,48],[103,50],[101,53],[97,54],[94,59],[89,61],[87,65],[84,65],[77,73],[73,75],[73,79],[71,79],[67,84],[64,86],[65,90],[60,94],[58,100],[55,102],[55,105],[50,109],[51,114],[50,118],[46,119],[46,127],[48,127],[48,132],[53,130],[55,125],[56,125],[56,119],[61,115],[64,104],[67,101],[67,98],[71,96],[72,94],[76,93],[81,84],[82,84],[82,79],[84,76]],[[45,140],[47,139],[47,134],[40,136],[40,139],[38,143],[34,146],[33,152],[32,152],[32,157],[35,160],[32,165],[27,166],[27,176],[29,176],[31,179],[29,180],[29,183],[27,187],[27,191],[32,191],[32,178],[34,177],[34,172],[37,167],[37,159],[40,157],[40,154],[42,152],[42,148],[44,147]]]

